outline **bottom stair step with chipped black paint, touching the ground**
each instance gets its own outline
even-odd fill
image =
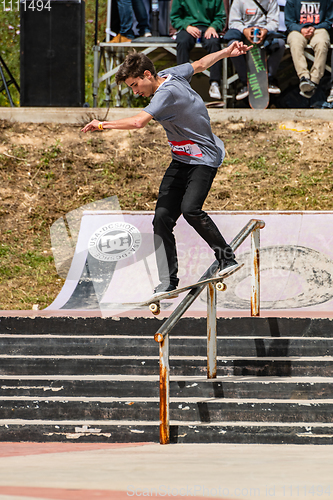
[[[0,441],[158,442],[157,422],[0,420]],[[333,424],[171,421],[171,443],[332,444]]]

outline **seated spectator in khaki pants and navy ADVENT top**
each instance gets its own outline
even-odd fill
[[[289,32],[287,43],[300,80],[300,94],[310,99],[325,72],[330,47],[329,30],[333,23],[333,2],[287,0],[284,12]],[[310,70],[305,57],[308,44],[314,51],[314,62]]]

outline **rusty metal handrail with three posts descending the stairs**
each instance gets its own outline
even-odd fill
[[[230,243],[235,251],[243,241],[251,235],[251,316],[260,315],[260,229],[265,227],[261,220],[251,219],[246,226]],[[214,276],[218,269],[216,260],[201,276],[200,281]],[[169,318],[163,323],[161,328],[155,334],[156,342],[159,342],[160,353],[160,443],[170,443],[170,424],[169,424],[169,387],[170,387],[170,368],[169,368],[169,333],[178,323],[183,314],[190,305],[207,287],[207,378],[216,378],[216,288],[212,283],[199,285],[193,288],[182,302],[176,307]]]

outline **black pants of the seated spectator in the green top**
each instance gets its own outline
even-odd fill
[[[203,48],[212,54],[213,52],[218,52],[221,50],[221,42],[219,38],[205,38],[204,33],[207,30],[207,26],[197,26],[201,29],[201,44]],[[196,38],[187,33],[186,30],[180,30],[177,33],[177,64],[184,64],[190,60],[190,52],[195,46]],[[210,68],[210,82],[221,83],[222,77],[222,61],[218,61],[213,64]]]

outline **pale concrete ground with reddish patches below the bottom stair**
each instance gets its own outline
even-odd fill
[[[325,499],[331,446],[0,443],[0,500]]]

